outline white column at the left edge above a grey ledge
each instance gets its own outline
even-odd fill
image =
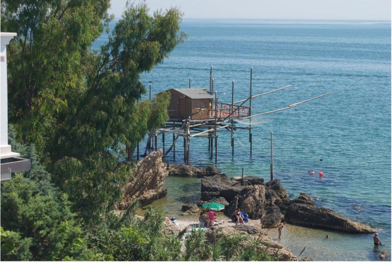
[[[0,48],[0,158],[18,157],[8,144],[7,45],[16,33],[1,32]]]

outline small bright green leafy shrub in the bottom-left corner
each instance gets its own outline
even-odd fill
[[[31,238],[22,238],[21,234],[13,231],[1,230],[1,261],[31,260],[29,250]]]

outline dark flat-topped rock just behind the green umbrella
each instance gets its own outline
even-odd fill
[[[229,180],[225,174],[202,177],[201,200],[209,201],[222,196],[228,202],[231,202],[243,188],[237,183],[234,180]]]

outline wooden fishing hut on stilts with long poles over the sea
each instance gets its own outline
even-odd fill
[[[268,95],[286,88],[293,86],[289,84],[284,87],[280,87],[274,90],[270,90],[261,94],[252,94],[252,68],[250,69],[250,85],[249,95],[242,100],[234,101],[234,80],[232,80],[231,88],[231,102],[222,103],[218,102],[217,92],[214,92],[214,78],[212,77],[212,67],[210,68],[210,90],[207,91],[205,88],[191,88],[191,78],[189,78],[189,88],[172,88],[166,90],[171,94],[171,103],[168,107],[169,119],[164,127],[153,130],[147,139],[147,149],[153,149],[151,141],[154,141],[155,150],[157,150],[157,136],[162,135],[163,152],[166,156],[170,151],[173,151],[173,157],[175,158],[175,144],[179,137],[183,137],[183,148],[184,148],[184,160],[189,165],[189,153],[190,153],[190,142],[193,137],[204,137],[208,138],[208,150],[211,153],[211,159],[213,158],[213,148],[215,141],[215,163],[217,163],[218,156],[218,130],[228,130],[231,133],[231,148],[232,155],[234,156],[234,131],[237,129],[249,130],[249,149],[250,155],[252,155],[252,123],[251,119],[275,112],[294,108],[302,103],[312,101],[325,95],[330,95],[332,92],[327,94],[315,96],[294,104],[289,104],[286,107],[267,111],[263,113],[257,113],[251,115],[252,99],[257,97]],[[151,87],[151,84],[150,84]],[[248,106],[244,104],[248,103]],[[248,126],[236,126],[236,119],[248,119]],[[172,144],[170,148],[165,152],[165,133],[172,134]],[[272,133],[271,133],[272,134]],[[271,137],[272,142],[272,137]],[[272,146],[271,146],[272,148]],[[272,149],[271,149],[272,150]],[[137,151],[137,157],[139,159],[139,145]],[[271,166],[271,177],[272,177],[272,166]]]

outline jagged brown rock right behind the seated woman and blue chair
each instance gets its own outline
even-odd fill
[[[264,215],[265,187],[262,185],[247,186],[230,202],[226,214],[232,216],[236,209],[248,214],[250,219],[259,219]]]

